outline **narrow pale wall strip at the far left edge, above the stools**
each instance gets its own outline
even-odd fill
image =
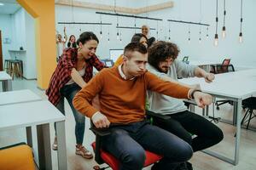
[[[3,61],[4,59],[10,59],[8,49],[12,47],[14,42],[12,36],[12,21],[10,14],[0,14],[0,30],[2,31],[2,49],[3,49]],[[10,43],[5,43],[4,39],[9,38]]]

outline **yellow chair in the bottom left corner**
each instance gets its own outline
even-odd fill
[[[32,149],[25,143],[0,148],[0,169],[35,170]]]

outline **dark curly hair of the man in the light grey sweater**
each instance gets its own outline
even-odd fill
[[[158,65],[161,61],[172,58],[177,59],[179,48],[172,42],[154,42],[153,45],[148,48],[148,63],[159,70]]]

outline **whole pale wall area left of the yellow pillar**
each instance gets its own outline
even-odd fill
[[[11,39],[10,44],[3,43],[3,60],[15,59],[16,56],[16,59],[23,61],[23,77],[36,78],[35,25],[32,16],[20,8],[15,14],[1,14],[0,21],[3,39]],[[21,46],[26,52],[9,53],[9,49],[19,50]]]

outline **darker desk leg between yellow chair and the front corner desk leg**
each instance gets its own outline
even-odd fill
[[[39,168],[51,170],[51,149],[50,149],[50,138],[49,138],[49,123],[38,125],[38,159]]]

